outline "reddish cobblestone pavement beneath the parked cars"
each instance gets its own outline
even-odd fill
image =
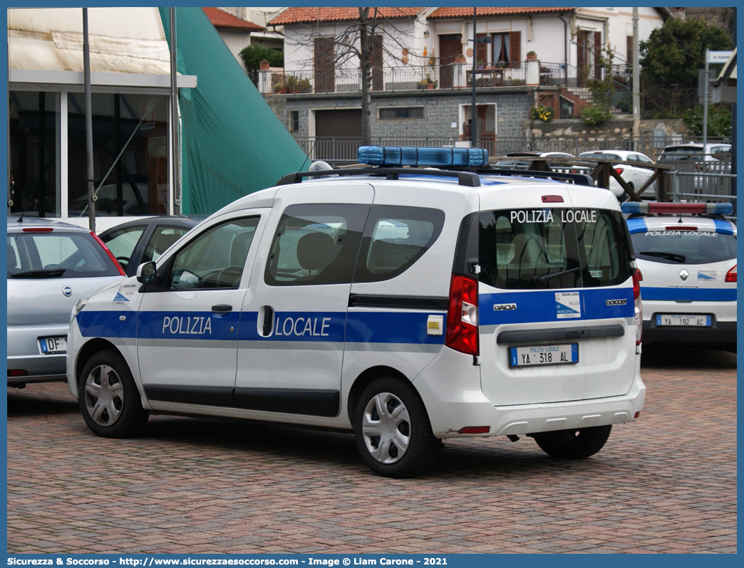
[[[7,391],[16,552],[737,552],[736,355],[644,354],[641,420],[589,459],[447,442],[376,477],[351,436],[153,416],[97,438],[65,384]]]

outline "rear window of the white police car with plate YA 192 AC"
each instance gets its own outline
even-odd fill
[[[706,264],[737,257],[737,237],[714,231],[649,230],[631,235],[635,256],[666,264]]]

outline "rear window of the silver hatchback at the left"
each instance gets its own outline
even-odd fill
[[[44,271],[54,271],[55,276],[65,278],[121,275],[106,251],[88,233],[9,234],[7,277],[43,277]]]

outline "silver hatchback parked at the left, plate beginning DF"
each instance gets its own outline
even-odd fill
[[[73,306],[121,280],[121,265],[89,230],[54,219],[8,218],[7,385],[65,381]]]

